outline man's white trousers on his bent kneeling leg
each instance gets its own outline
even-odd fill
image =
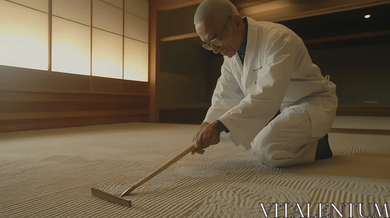
[[[271,167],[309,164],[315,160],[318,140],[302,106],[283,111],[264,127],[251,143],[252,152]]]

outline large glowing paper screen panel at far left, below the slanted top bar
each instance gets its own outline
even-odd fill
[[[0,65],[48,70],[48,15],[0,0]]]

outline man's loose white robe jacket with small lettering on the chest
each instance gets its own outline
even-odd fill
[[[283,112],[301,106],[309,113],[312,137],[322,137],[336,114],[335,89],[292,30],[248,18],[244,64],[238,54],[224,56],[204,122],[219,119],[230,130],[221,133],[221,141],[249,150],[278,109]]]

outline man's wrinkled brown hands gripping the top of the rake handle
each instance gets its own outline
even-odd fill
[[[203,124],[202,124],[203,125]],[[191,154],[203,154],[204,148],[209,147],[210,145],[216,145],[219,143],[219,136],[223,132],[223,127],[217,122],[213,122],[205,127],[202,126],[199,128],[196,137],[194,138],[195,149]]]

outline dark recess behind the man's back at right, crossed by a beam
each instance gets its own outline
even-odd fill
[[[370,18],[364,18],[371,15]],[[303,40],[390,30],[390,4],[279,22]],[[307,45],[339,104],[390,104],[390,35]]]

